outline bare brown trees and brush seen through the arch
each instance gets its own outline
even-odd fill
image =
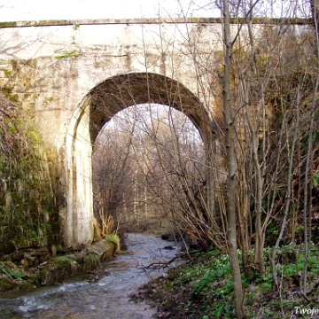
[[[110,136],[112,129],[105,128],[103,155],[98,155],[98,144],[95,151],[99,221],[105,230],[110,215],[118,220],[115,211],[120,211],[124,219],[143,215],[142,224],[159,214],[186,230],[194,240],[214,240],[207,221],[206,169],[201,164],[205,152],[198,132],[191,121],[173,113],[172,108],[164,112],[161,107],[155,116],[156,108],[135,106],[125,112],[117,119],[121,124],[116,125],[114,136]],[[119,132],[119,128],[129,133]],[[102,204],[99,209],[98,202]]]

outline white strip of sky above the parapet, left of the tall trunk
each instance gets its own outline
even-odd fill
[[[177,16],[212,16],[201,10],[208,0],[0,0],[0,21],[47,19],[128,19]],[[206,12],[206,13],[205,13]]]

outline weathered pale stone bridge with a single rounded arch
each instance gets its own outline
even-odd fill
[[[66,247],[92,238],[92,144],[115,113],[144,103],[172,106],[198,128],[208,164],[214,160],[221,70],[222,24],[214,19],[0,24],[0,85],[42,133]]]

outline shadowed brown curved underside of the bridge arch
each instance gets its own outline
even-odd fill
[[[184,113],[201,133],[207,121],[198,97],[180,82],[160,74],[138,73],[114,76],[89,92],[89,130],[94,143],[98,132],[114,114],[130,105],[167,105]]]

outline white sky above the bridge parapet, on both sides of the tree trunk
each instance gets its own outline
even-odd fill
[[[216,2],[218,0],[0,0],[0,21],[220,17]],[[308,0],[258,0],[255,9],[263,17],[292,16],[295,12],[305,17],[308,3]]]

